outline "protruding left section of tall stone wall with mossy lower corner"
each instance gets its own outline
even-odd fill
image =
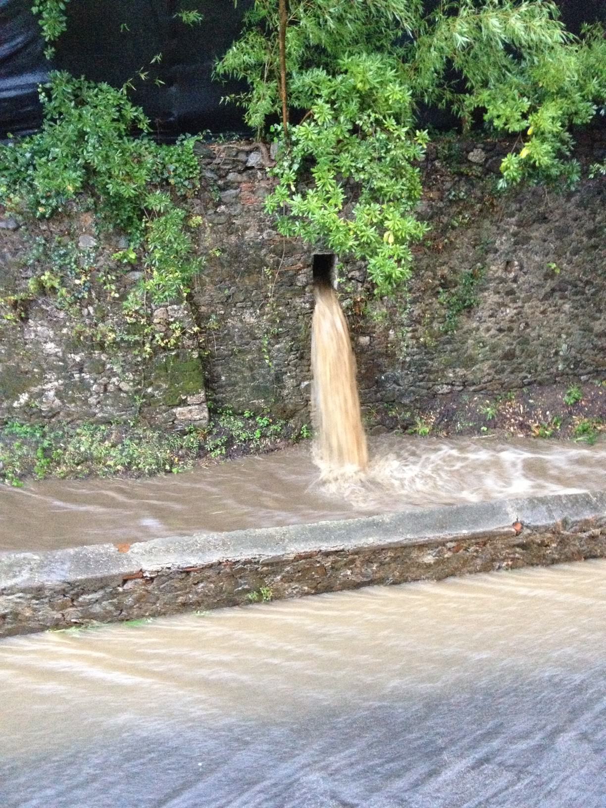
[[[122,302],[141,271],[112,255],[90,213],[0,229],[0,423],[113,422],[144,417],[174,427],[208,422],[204,367],[187,302],[159,307],[145,349]],[[44,280],[48,287],[40,288]],[[32,291],[32,283],[35,284]],[[183,336],[173,339],[178,324]],[[148,340],[149,341],[149,340]]]

